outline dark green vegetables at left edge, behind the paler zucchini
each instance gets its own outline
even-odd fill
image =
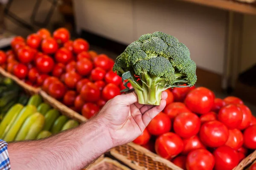
[[[16,103],[26,105],[29,96],[21,92],[21,88],[12,79],[0,77],[0,121]]]

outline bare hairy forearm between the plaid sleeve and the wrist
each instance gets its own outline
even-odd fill
[[[106,128],[96,119],[38,141],[10,143],[12,170],[81,170],[111,149]]]

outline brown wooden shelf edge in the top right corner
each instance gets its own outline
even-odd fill
[[[209,6],[214,8],[220,8],[227,11],[239,12],[242,14],[256,15],[256,5],[251,4],[250,1],[243,1],[247,3],[241,3],[238,0],[180,0],[189,3],[195,3],[198,5]],[[241,1],[241,0],[240,0]]]

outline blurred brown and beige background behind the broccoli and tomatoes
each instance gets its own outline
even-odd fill
[[[0,0],[0,48],[12,37],[59,27],[116,58],[142,34],[183,42],[197,85],[256,105],[256,0]]]

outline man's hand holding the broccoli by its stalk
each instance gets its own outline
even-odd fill
[[[159,106],[138,103],[132,92],[109,100],[96,116],[112,139],[113,147],[126,144],[140,136],[149,122],[166,106],[167,93],[163,91]]]

